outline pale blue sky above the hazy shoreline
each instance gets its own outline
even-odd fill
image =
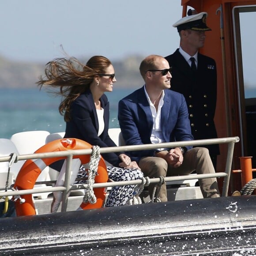
[[[173,53],[181,0],[1,0],[0,55],[11,60]]]

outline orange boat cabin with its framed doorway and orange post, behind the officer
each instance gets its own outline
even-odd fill
[[[182,0],[183,16],[187,15],[189,8],[197,12],[208,13],[207,25],[212,31],[206,33],[205,45],[200,53],[215,59],[218,74],[217,107],[215,124],[218,137],[239,136],[233,154],[233,174],[230,179],[230,189],[240,190],[241,187],[256,177],[252,174],[256,167],[256,95],[246,95],[246,84],[243,70],[243,38],[245,15],[256,15],[255,0]],[[253,24],[247,24],[250,30]],[[246,49],[254,52],[254,49]],[[256,91],[256,83],[253,87]],[[221,154],[218,156],[217,171],[221,171],[226,163],[226,145],[220,145]],[[247,158],[252,157],[252,164]],[[245,161],[247,163],[245,163]],[[249,160],[250,162],[250,160]],[[243,181],[241,183],[241,169]]]

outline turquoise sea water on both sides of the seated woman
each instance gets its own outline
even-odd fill
[[[118,102],[134,91],[118,89],[106,93],[110,104],[109,128],[118,128]],[[61,98],[45,90],[0,89],[0,138],[10,139],[17,132],[44,130],[64,132],[65,122],[58,107]]]

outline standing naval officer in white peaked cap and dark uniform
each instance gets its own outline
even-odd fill
[[[191,10],[189,11],[192,13]],[[214,139],[217,132],[214,123],[217,98],[217,73],[215,60],[200,54],[205,31],[211,30],[206,24],[207,12],[188,15],[175,24],[181,38],[180,48],[166,56],[172,67],[171,90],[184,95],[194,139]],[[210,152],[216,169],[219,146],[202,145]]]

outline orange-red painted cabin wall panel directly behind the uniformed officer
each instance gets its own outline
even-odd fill
[[[235,6],[256,5],[256,0],[181,0],[183,6],[182,16],[185,16],[188,8],[196,9],[199,13],[208,13],[207,26],[212,31],[207,31],[206,40],[200,53],[210,56],[217,65],[217,105],[215,111],[215,125],[219,138],[229,136],[241,137],[239,117],[239,92],[237,90],[236,61],[233,38],[233,8]],[[223,28],[219,8],[222,8]],[[174,21],[173,21],[174,22]],[[223,51],[224,49],[224,51]],[[225,58],[223,58],[225,54]],[[225,59],[226,63],[223,63]],[[223,110],[225,113],[223,113]],[[220,155],[216,171],[225,169],[227,146],[220,145]],[[245,152],[246,153],[246,152]],[[240,157],[242,154],[241,142],[236,143],[233,154],[232,169],[240,169]],[[243,179],[245,181],[245,177]],[[221,182],[219,183],[221,186]],[[230,189],[239,190],[241,187],[240,175],[233,175],[230,180]]]

